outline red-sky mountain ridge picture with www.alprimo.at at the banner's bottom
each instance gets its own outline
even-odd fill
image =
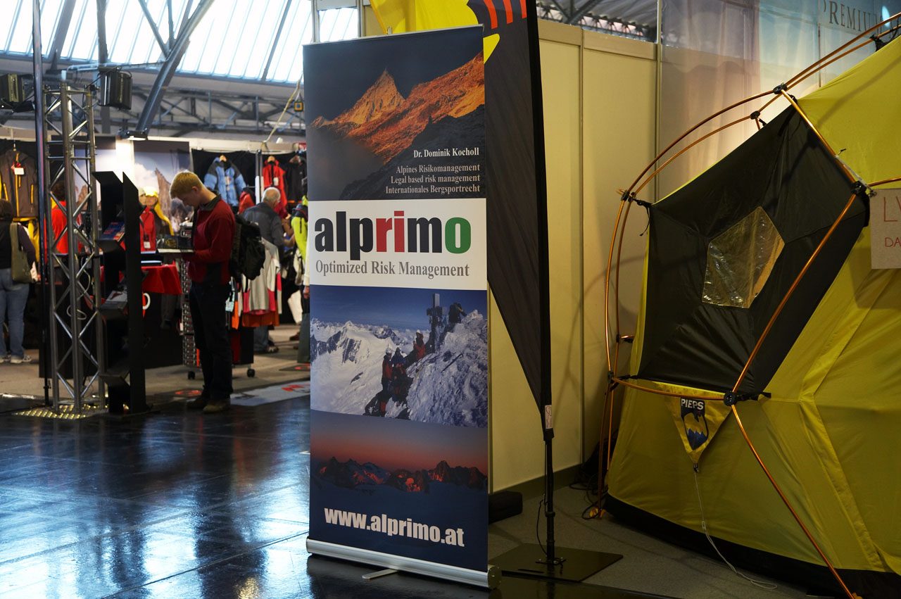
[[[313,410],[316,540],[484,570],[485,431]]]

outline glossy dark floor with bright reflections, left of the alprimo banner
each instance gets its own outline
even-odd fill
[[[0,596],[278,596],[305,572],[303,543],[266,548],[307,531],[308,413],[0,415]]]

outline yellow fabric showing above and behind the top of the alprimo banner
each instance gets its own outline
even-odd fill
[[[478,25],[476,14],[468,6],[469,0],[372,0],[383,33],[422,32],[428,29]],[[497,47],[500,35],[494,33],[485,42],[485,61]]]

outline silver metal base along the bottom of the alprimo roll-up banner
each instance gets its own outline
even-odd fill
[[[443,580],[450,580],[451,582],[481,586],[488,589],[496,588],[501,580],[500,568],[496,566],[487,566],[487,571],[482,572],[480,570],[469,570],[465,567],[447,566],[445,564],[424,561],[423,559],[405,558],[389,553],[380,553],[378,551],[370,551],[369,549],[358,549],[356,547],[338,545],[336,543],[328,543],[323,540],[309,538],[306,540],[306,550],[314,555],[347,559],[349,561],[357,561],[372,566],[381,566],[387,569],[410,572],[412,574],[432,576]],[[375,574],[380,573],[377,572]]]

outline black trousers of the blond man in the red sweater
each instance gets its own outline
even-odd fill
[[[231,286],[193,283],[189,295],[194,321],[194,345],[200,351],[204,397],[227,401],[232,395],[232,343],[225,301]]]

